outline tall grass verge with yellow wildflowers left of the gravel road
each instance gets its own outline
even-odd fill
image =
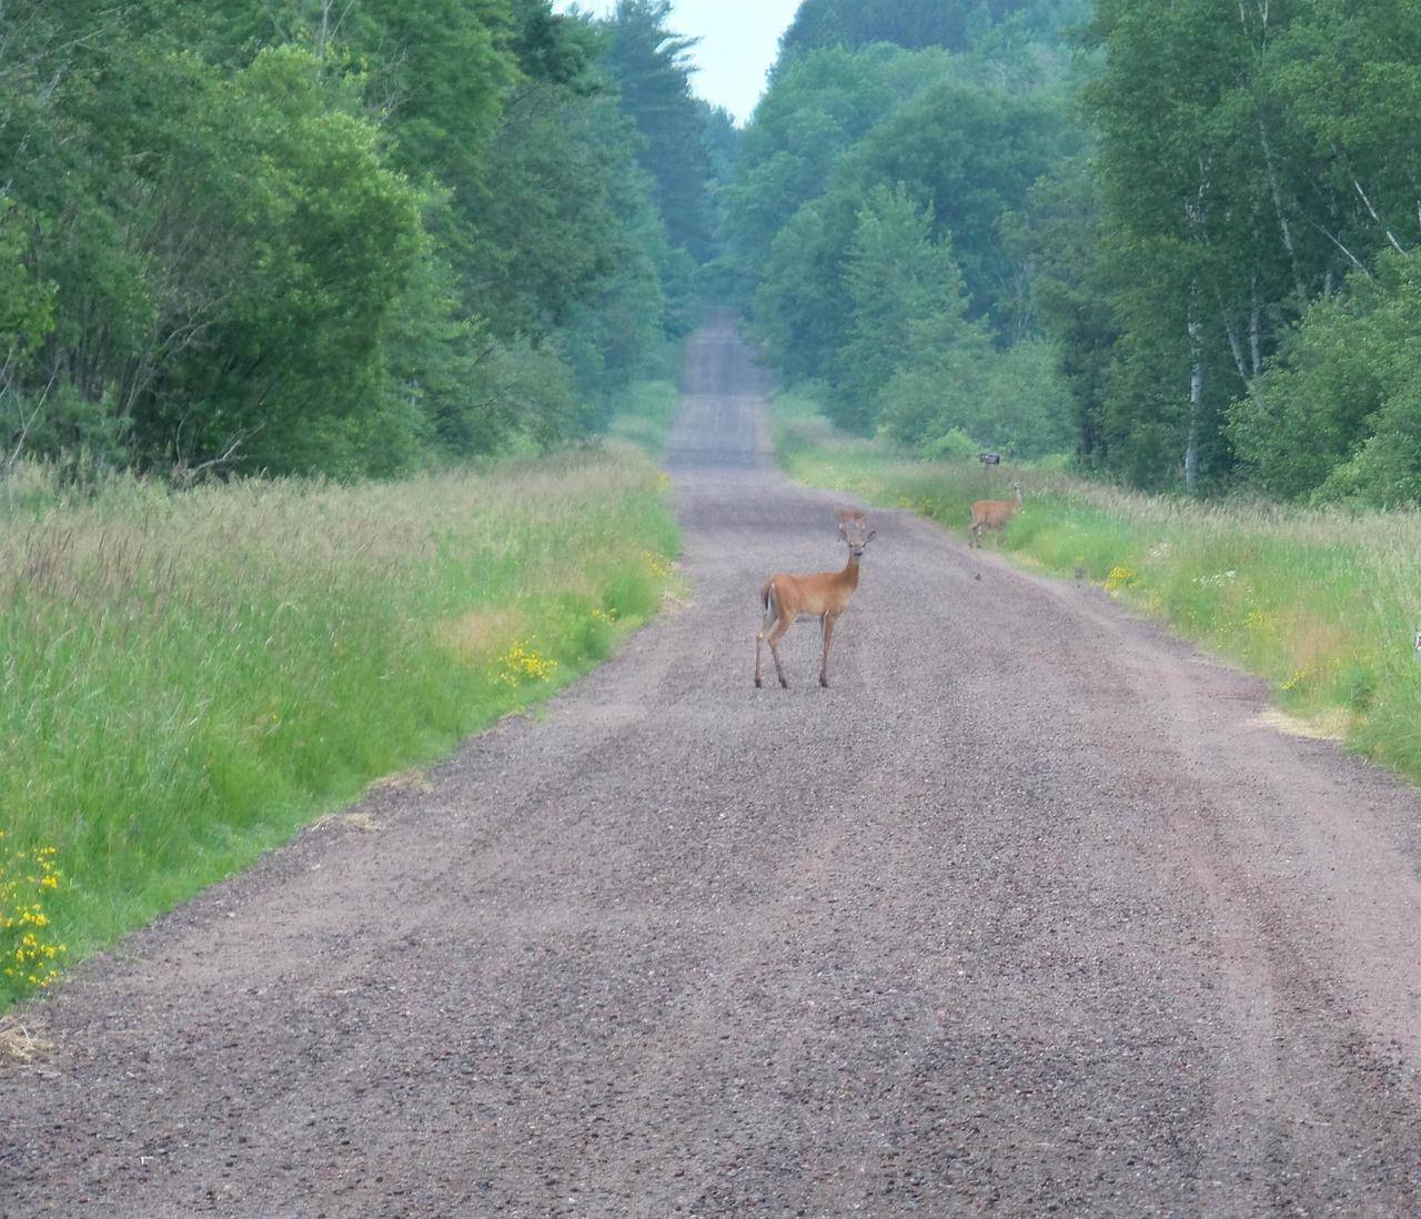
[[[644,457],[0,494],[0,1006],[657,612]],[[44,868],[48,868],[45,871]]]

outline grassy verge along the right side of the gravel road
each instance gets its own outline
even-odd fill
[[[1026,509],[986,546],[1104,585],[1269,681],[1290,716],[1421,780],[1421,514],[1196,503],[1050,466],[917,460],[837,432],[793,394],[774,418],[797,480],[911,509],[963,538],[971,504],[1009,499],[1020,475]]]

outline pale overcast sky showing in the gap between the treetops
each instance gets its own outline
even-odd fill
[[[676,0],[674,30],[701,38],[696,92],[745,122],[799,6],[800,0]],[[554,0],[553,7],[566,11],[573,0]],[[577,7],[610,13],[615,0],[580,0]]]

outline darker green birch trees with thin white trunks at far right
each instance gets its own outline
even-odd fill
[[[1354,388],[1334,378],[1336,406],[1287,405],[1280,395],[1302,381],[1266,369],[1295,354],[1316,365],[1322,331],[1336,327],[1314,303],[1421,239],[1417,148],[1401,119],[1421,97],[1415,16],[1408,3],[1098,3],[1101,72],[1086,101],[1100,206],[1040,246],[1059,251],[1046,254],[1061,267],[1047,321],[1093,460],[1162,486],[1187,455],[1205,484],[1235,476],[1242,456],[1241,473],[1273,493],[1312,493],[1336,469],[1329,494],[1410,494],[1394,462],[1341,472],[1366,430]],[[1083,244],[1094,253],[1073,276],[1063,256]],[[1106,303],[1094,317],[1090,297]],[[1310,308],[1317,334],[1297,344]],[[1347,367],[1363,382],[1376,375],[1354,357]],[[1249,405],[1231,411],[1235,399]],[[1303,442],[1313,448],[1273,452],[1296,433],[1269,429],[1304,416],[1316,416]]]

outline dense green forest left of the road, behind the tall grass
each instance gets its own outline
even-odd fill
[[[730,172],[666,0],[0,9],[0,475],[392,473],[597,429]]]

